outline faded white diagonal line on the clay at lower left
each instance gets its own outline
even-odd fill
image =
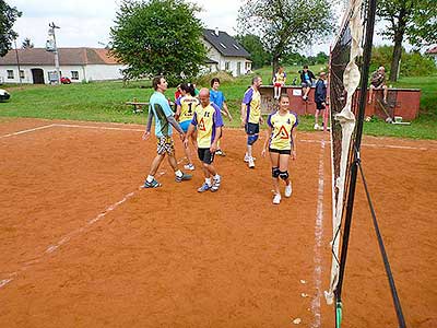
[[[135,191],[129,192],[121,200],[113,203],[111,206],[107,207],[103,212],[101,212],[97,216],[95,216],[94,219],[90,220],[85,226],[79,227],[70,233],[68,233],[67,235],[64,235],[63,237],[60,238],[60,241],[58,243],[56,243],[55,245],[50,245],[47,247],[47,249],[40,254],[36,259],[27,261],[24,266],[22,266],[20,268],[20,272],[24,272],[26,271],[32,265],[38,263],[43,258],[45,258],[46,256],[55,253],[56,250],[59,249],[60,246],[67,244],[68,242],[70,242],[73,237],[75,236],[80,236],[83,233],[86,232],[86,230],[92,226],[93,224],[95,224],[96,222],[101,221],[102,219],[104,219],[106,216],[106,214],[110,213],[111,211],[114,211],[115,209],[117,209],[119,206],[121,206],[123,202],[126,202],[129,198],[131,198],[133,195],[135,195]],[[9,284],[11,281],[14,280],[14,277],[17,276],[19,272],[11,272],[9,273],[9,278],[0,280],[0,289],[4,288],[7,284]]]

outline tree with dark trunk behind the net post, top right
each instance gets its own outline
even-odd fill
[[[404,37],[415,47],[437,43],[437,5],[435,0],[379,0],[378,19],[388,25],[381,34],[393,42],[390,81],[398,80]]]

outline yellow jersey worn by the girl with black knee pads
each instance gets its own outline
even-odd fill
[[[299,124],[297,114],[287,112],[285,115],[280,115],[277,110],[269,115],[267,124],[272,128],[269,148],[291,150],[293,144],[292,131]]]

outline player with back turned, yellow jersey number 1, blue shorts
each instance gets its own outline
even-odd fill
[[[180,128],[184,132],[187,132],[188,127],[194,116],[194,109],[199,105],[199,99],[194,97],[194,86],[191,83],[182,83],[180,84],[180,94],[181,96],[176,101],[176,119],[179,121]],[[194,141],[191,140],[191,143],[194,144]],[[194,169],[194,165],[191,161],[191,152],[187,147],[184,149],[185,155],[188,159],[188,164],[184,165],[185,169]]]

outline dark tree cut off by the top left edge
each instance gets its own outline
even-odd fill
[[[0,0],[0,57],[3,57],[12,48],[12,40],[19,35],[12,30],[21,12],[15,7],[10,7]]]

